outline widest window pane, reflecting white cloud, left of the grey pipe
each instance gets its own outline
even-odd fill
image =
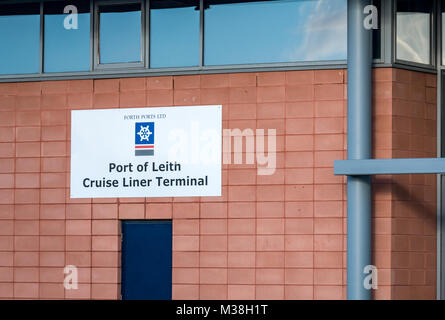
[[[208,3],[206,65],[346,59],[346,0]]]

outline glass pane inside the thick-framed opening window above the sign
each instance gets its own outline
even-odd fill
[[[99,7],[100,63],[142,61],[141,5]]]

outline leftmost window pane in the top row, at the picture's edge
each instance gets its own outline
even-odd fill
[[[0,74],[39,72],[39,4],[0,5]]]

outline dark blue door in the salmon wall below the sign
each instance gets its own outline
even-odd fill
[[[170,300],[171,221],[123,221],[122,237],[122,299]]]

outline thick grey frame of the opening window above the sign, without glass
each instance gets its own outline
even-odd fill
[[[144,69],[147,67],[146,65],[146,10],[145,10],[145,2],[144,0],[131,0],[131,1],[122,1],[122,0],[99,0],[92,1],[94,2],[94,46],[93,46],[93,62],[94,62],[94,70],[113,70],[113,69]],[[100,6],[112,6],[112,5],[126,5],[126,4],[140,4],[141,6],[141,61],[140,62],[120,62],[120,63],[100,63],[100,48],[99,48],[99,38],[100,38],[100,18],[99,18],[99,7]]]

